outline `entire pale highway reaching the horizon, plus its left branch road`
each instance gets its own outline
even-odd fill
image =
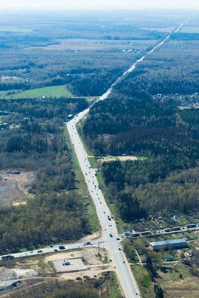
[[[187,22],[186,20],[185,22]],[[184,23],[185,23],[184,22]],[[175,31],[177,32],[182,26],[182,23],[178,29]],[[168,35],[162,42],[160,42],[157,46],[155,46],[151,51],[146,53],[143,57],[141,57],[139,60],[137,60],[129,70],[127,70],[121,77],[119,77],[112,85],[111,87],[98,99],[103,100],[107,98],[107,96],[111,93],[112,87],[117,84],[117,82],[121,81],[121,79],[128,73],[132,72],[134,68],[136,67],[136,64],[141,62],[146,55],[153,52],[157,47],[161,46],[165,40],[169,38],[170,35]],[[116,272],[122,287],[122,290],[124,292],[124,295],[126,298],[136,298],[141,297],[138,287],[136,285],[136,282],[134,280],[132,270],[130,265],[128,264],[127,258],[122,251],[122,247],[120,247],[120,241],[117,240],[117,238],[120,238],[117,232],[117,227],[115,224],[115,221],[108,220],[108,215],[110,216],[110,210],[106,204],[106,201],[104,199],[104,196],[101,192],[101,190],[98,188],[98,182],[96,179],[96,176],[94,175],[94,170],[91,169],[90,164],[88,162],[87,153],[84,149],[84,146],[79,138],[78,132],[76,130],[76,123],[81,120],[85,114],[89,111],[89,109],[86,109],[79,113],[77,116],[75,116],[72,120],[66,123],[71,142],[73,144],[74,150],[76,152],[79,165],[81,167],[81,170],[84,174],[85,181],[87,183],[87,187],[89,190],[89,193],[93,199],[93,202],[96,206],[97,215],[100,221],[100,224],[102,226],[103,236],[100,239],[102,243],[100,245],[103,247],[106,243],[106,249],[109,249],[112,254],[112,261],[113,265],[116,266]],[[110,233],[113,235],[113,237],[110,237]],[[92,241],[93,245],[97,245],[99,240]],[[105,243],[103,243],[103,241]],[[65,245],[66,249],[72,249],[72,248],[78,248],[78,247],[84,247],[83,243],[73,243],[73,244],[63,244]],[[50,248],[42,248],[43,253],[53,252],[54,249],[57,248],[57,246]],[[22,252],[22,253],[16,253],[13,254],[14,257],[22,257],[22,256],[30,256],[38,254],[37,251],[33,252]]]

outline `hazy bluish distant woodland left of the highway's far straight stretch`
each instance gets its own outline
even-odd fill
[[[174,17],[158,11],[155,20],[141,11],[121,11],[120,16],[116,11],[2,15],[0,91],[67,85],[76,96],[100,96],[147,49],[168,35],[163,20],[175,28],[189,14],[181,12]],[[9,27],[9,19],[14,27]],[[72,47],[62,48],[68,40]],[[107,43],[102,48],[75,48],[78,41],[83,45]],[[129,43],[127,48],[132,51],[123,53],[126,45],[113,45],[113,41]],[[47,50],[51,45],[60,47]]]

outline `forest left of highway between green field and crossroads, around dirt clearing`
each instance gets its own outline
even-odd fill
[[[0,101],[0,110],[6,110],[0,117],[7,122],[0,129],[0,169],[28,168],[37,177],[26,204],[0,206],[1,254],[91,232],[63,128],[68,113],[86,107],[85,98]]]

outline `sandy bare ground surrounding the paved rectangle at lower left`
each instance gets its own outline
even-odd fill
[[[33,284],[39,284],[48,279],[58,278],[59,280],[76,280],[76,278],[83,279],[83,276],[89,276],[96,279],[101,278],[102,273],[107,271],[115,271],[112,262],[104,264],[103,260],[105,256],[109,259],[110,253],[105,249],[100,249],[102,258],[96,257],[98,248],[86,247],[85,249],[74,250],[69,252],[55,253],[53,255],[44,256],[42,259],[29,259],[24,260],[25,263],[16,264],[16,268],[7,270],[6,268],[0,268],[0,296],[7,297],[10,291],[18,290],[19,288],[28,288]],[[85,270],[77,272],[59,273],[53,272],[53,261],[56,260],[73,260],[81,259],[85,264]],[[38,267],[38,262],[42,263],[43,270]],[[90,262],[92,263],[90,265]],[[51,266],[50,266],[51,264]],[[25,267],[21,269],[19,267]],[[92,267],[93,266],[93,267]],[[96,266],[96,267],[95,267]],[[17,268],[18,267],[18,268]],[[29,268],[27,268],[29,267]],[[32,267],[32,269],[30,268]],[[104,268],[103,268],[104,267]],[[38,275],[39,272],[39,275]],[[103,278],[103,276],[102,276]],[[7,295],[6,295],[7,293]]]

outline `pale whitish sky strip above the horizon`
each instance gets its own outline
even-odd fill
[[[0,9],[199,9],[199,0],[0,0]]]

